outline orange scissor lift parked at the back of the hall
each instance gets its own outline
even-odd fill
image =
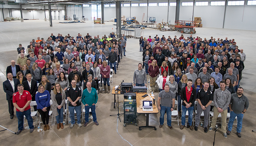
[[[175,21],[175,30],[178,32],[180,31],[183,33],[190,33],[195,34],[196,33],[196,21],[184,21],[184,20],[178,20]]]

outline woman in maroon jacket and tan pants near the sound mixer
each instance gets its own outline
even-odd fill
[[[149,73],[149,85],[151,87],[150,92],[155,92],[155,81],[157,79],[157,75],[159,74],[159,67],[156,64],[156,60],[153,60],[151,65],[148,68]]]

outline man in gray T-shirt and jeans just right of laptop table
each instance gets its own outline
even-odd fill
[[[167,125],[170,129],[173,129],[171,126],[171,112],[174,110],[175,105],[175,96],[174,93],[169,90],[170,87],[168,84],[164,85],[164,90],[162,90],[158,95],[157,106],[160,110],[160,125],[159,128],[163,127],[164,114],[167,115]],[[161,105],[160,105],[161,100]]]

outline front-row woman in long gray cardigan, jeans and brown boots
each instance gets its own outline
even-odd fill
[[[65,111],[66,94],[61,89],[60,83],[56,83],[53,91],[51,92],[52,98],[52,114],[56,116],[57,129],[63,129],[63,111]]]

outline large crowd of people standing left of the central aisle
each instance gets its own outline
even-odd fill
[[[17,134],[24,129],[23,116],[26,116],[30,132],[34,131],[30,115],[31,101],[36,102],[34,110],[41,116],[44,131],[50,129],[50,109],[53,116],[56,116],[57,129],[64,128],[66,100],[70,128],[75,123],[82,127],[82,104],[85,105],[84,126],[89,122],[89,109],[90,119],[98,125],[95,109],[101,92],[99,81],[103,82],[105,93],[110,93],[110,68],[113,73],[117,73],[120,59],[126,56],[125,48],[124,34],[117,40],[113,32],[102,38],[99,35],[92,38],[89,33],[84,38],[80,33],[77,37],[69,34],[65,37],[58,34],[55,37],[51,34],[47,40],[40,37],[32,39],[26,49],[19,44],[17,61],[12,60],[7,67],[7,80],[3,82],[10,119],[14,118],[14,107],[16,108],[19,122]]]

